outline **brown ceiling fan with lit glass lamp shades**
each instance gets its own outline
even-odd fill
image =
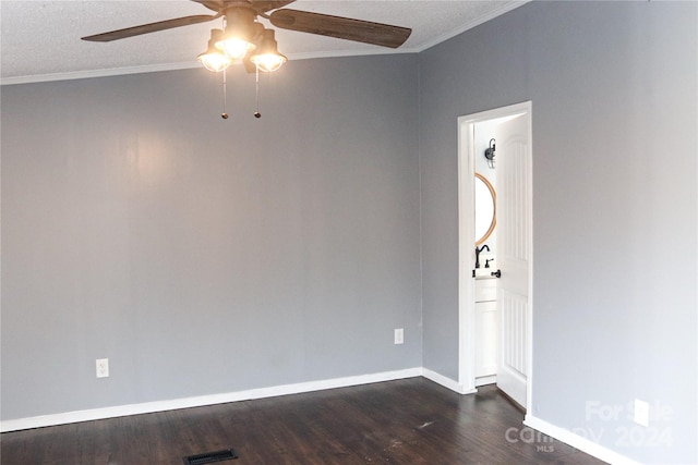
[[[210,71],[218,72],[238,60],[245,64],[248,71],[270,72],[280,68],[287,59],[277,50],[274,29],[266,28],[258,23],[258,16],[268,20],[274,26],[281,29],[336,37],[389,48],[401,46],[412,32],[407,27],[284,9],[294,0],[192,1],[201,3],[214,11],[215,14],[200,14],[142,24],[86,36],[82,39],[107,42],[224,17],[224,28],[212,29],[207,50],[197,57],[202,64]]]

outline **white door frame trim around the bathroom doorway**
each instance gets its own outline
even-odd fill
[[[528,203],[529,250],[528,264],[528,360],[526,403],[532,405],[533,387],[533,150],[532,101],[485,110],[458,118],[458,384],[461,393],[477,392],[476,387],[476,304],[473,241],[474,237],[474,125],[490,120],[526,113],[528,115],[527,144],[529,152]]]

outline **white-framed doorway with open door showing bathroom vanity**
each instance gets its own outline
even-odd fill
[[[461,392],[476,392],[479,384],[496,381],[524,408],[530,405],[532,382],[531,145],[530,101],[458,119],[458,383]],[[494,157],[485,156],[486,149]],[[496,193],[496,227],[486,241],[476,237],[480,178]],[[494,285],[491,273],[498,274]],[[484,295],[483,279],[488,298],[495,301],[486,306],[476,304],[476,295]],[[496,353],[484,353],[492,350]],[[483,376],[483,360],[493,374]]]

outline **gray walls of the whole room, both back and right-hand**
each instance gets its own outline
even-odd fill
[[[262,120],[240,70],[228,121],[198,70],[2,87],[2,419],[456,379],[456,119],[530,99],[532,414],[696,462],[697,10],[531,3],[419,59],[291,62]],[[619,441],[636,397],[671,446]]]

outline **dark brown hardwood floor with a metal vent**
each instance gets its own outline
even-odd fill
[[[459,395],[423,378],[85,421],[0,436],[2,465],[603,464],[537,435],[494,387]]]

